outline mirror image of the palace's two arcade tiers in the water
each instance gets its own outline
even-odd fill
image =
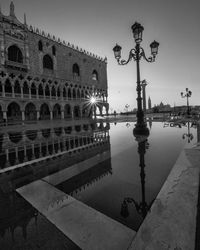
[[[82,150],[108,136],[108,123],[7,131],[0,134],[0,171],[66,151]],[[101,133],[100,133],[101,132]]]

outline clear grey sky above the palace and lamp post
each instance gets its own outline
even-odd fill
[[[127,59],[135,47],[131,26],[144,27],[146,56],[150,43],[160,43],[154,63],[140,61],[141,80],[146,79],[147,99],[152,106],[186,105],[180,93],[192,91],[191,105],[200,105],[200,1],[199,0],[14,0],[15,14],[23,22],[42,29],[101,57],[107,57],[108,102],[110,109],[137,107],[136,63],[117,64],[113,47],[122,47]],[[1,0],[3,14],[9,0]]]

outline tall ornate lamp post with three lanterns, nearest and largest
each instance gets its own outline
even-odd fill
[[[155,57],[158,53],[158,46],[159,43],[155,40],[150,44],[151,48],[151,55],[150,57],[146,57],[144,49],[140,46],[140,43],[142,42],[142,32],[144,30],[143,26],[137,22],[135,22],[132,25],[132,32],[133,37],[135,39],[135,48],[131,49],[129,52],[129,58],[128,60],[121,59],[121,49],[122,47],[116,44],[116,46],[113,48],[115,58],[119,65],[126,65],[128,64],[132,59],[136,61],[136,72],[137,72],[137,124],[134,128],[139,130],[141,128],[145,128],[146,124],[144,122],[144,112],[142,110],[142,98],[141,98],[141,81],[140,81],[140,59],[144,58],[147,62],[154,62]]]

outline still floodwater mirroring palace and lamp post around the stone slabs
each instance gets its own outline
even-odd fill
[[[134,123],[77,121],[2,129],[0,245],[3,249],[79,249],[16,193],[37,180],[138,230],[184,144],[196,141],[196,127],[189,124],[193,134],[189,141],[186,125],[149,123],[150,135],[143,143],[133,136]]]

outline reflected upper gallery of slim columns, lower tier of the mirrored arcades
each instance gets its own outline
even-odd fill
[[[77,151],[80,152],[81,150],[90,150],[93,147],[102,146],[107,143],[109,143],[109,137],[86,135],[68,137],[46,143],[32,143],[24,145],[24,147],[7,148],[5,152],[0,153],[1,168],[3,169],[42,157],[52,158],[55,157],[55,154],[63,151],[69,151],[71,154]]]

